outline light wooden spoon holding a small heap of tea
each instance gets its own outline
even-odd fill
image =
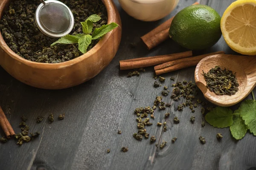
[[[211,68],[219,65],[222,69],[236,72],[239,82],[239,91],[236,94],[216,95],[206,87],[203,71],[208,72]],[[228,54],[216,54],[202,59],[195,68],[195,83],[203,92],[204,97],[218,106],[231,106],[241,102],[256,86],[256,56],[236,56]]]

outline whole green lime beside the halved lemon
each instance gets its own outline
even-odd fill
[[[192,5],[176,14],[169,34],[181,46],[200,50],[211,47],[221,38],[220,23],[221,16],[213,8]]]

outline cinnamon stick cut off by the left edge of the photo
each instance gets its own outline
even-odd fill
[[[12,129],[11,124],[9,123],[8,119],[6,118],[5,114],[3,113],[3,109],[0,106],[0,126],[3,129],[3,132],[6,134],[7,138],[11,138],[15,136],[15,132]]]

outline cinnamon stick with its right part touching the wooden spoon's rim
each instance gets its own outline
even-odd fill
[[[196,57],[189,57],[183,59],[177,59],[175,61],[166,62],[161,65],[157,65],[154,67],[156,75],[169,73],[172,71],[180,70],[182,68],[192,67],[198,64],[204,57],[215,55],[215,54],[225,54],[224,51],[217,51],[214,53],[204,54]]]

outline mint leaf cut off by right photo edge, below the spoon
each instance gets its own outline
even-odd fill
[[[239,107],[239,113],[250,132],[256,136],[256,101],[245,100]]]

